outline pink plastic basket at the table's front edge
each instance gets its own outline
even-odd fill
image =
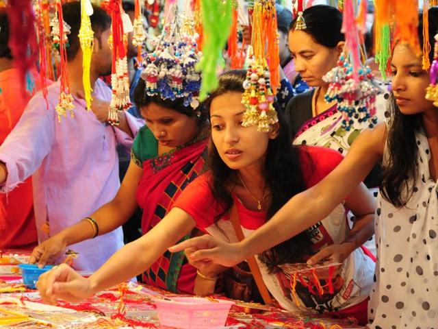
[[[172,300],[154,300],[159,323],[162,326],[203,329],[225,325],[228,312],[234,302],[211,302],[198,297],[172,297]]]

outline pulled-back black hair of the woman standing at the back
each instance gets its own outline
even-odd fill
[[[302,12],[306,23],[303,32],[309,34],[315,42],[328,48],[335,48],[340,41],[344,41],[342,29],[342,13],[331,5],[312,5]],[[289,29],[294,31],[294,18]]]

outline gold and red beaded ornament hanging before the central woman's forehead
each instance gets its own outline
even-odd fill
[[[242,103],[246,106],[242,125],[257,125],[257,130],[268,132],[270,125],[279,121],[274,106],[274,93],[270,86],[270,71],[266,60],[256,60],[248,47],[248,70],[244,81]]]

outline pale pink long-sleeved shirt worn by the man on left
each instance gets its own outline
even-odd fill
[[[110,202],[120,186],[116,145],[130,149],[133,138],[122,130],[101,123],[87,112],[83,99],[74,99],[75,117],[57,121],[55,106],[60,82],[48,88],[49,110],[42,93],[27,105],[23,117],[0,147],[0,161],[8,178],[0,187],[7,193],[33,175],[34,209],[38,240],[48,239],[42,226],[49,221],[50,235],[77,223]],[[94,84],[93,97],[110,101],[111,90],[101,80]],[[134,136],[142,121],[126,113]],[[94,271],[123,246],[122,228],[96,239],[70,246],[79,252],[75,267]]]

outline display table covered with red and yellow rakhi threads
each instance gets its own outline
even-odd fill
[[[3,255],[3,260],[4,257]],[[60,300],[57,306],[51,306],[42,302],[38,291],[29,290],[24,286],[19,272],[12,264],[5,263],[0,261],[0,328],[169,328],[160,324],[163,317],[160,319],[160,313],[157,312],[157,300],[173,303],[181,296],[186,297],[185,301],[190,303],[192,300],[201,300],[125,282],[113,289],[101,291],[81,303],[73,304]],[[201,301],[219,304],[220,300],[227,298],[214,295]],[[229,313],[224,313],[224,324],[220,327],[203,328],[361,328],[355,326],[354,320],[315,318],[304,313],[292,314],[261,304],[233,302]],[[183,317],[184,312],[185,310],[182,310],[179,316]],[[214,313],[207,308],[196,312],[198,319],[203,317],[204,320],[208,320],[214,317]],[[190,321],[190,328],[202,328],[196,324],[198,320]]]

